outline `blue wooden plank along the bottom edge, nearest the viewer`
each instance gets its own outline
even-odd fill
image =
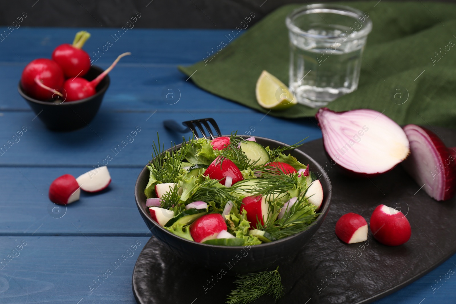
[[[134,304],[131,273],[147,240],[148,237],[0,237],[0,259],[8,259],[8,254],[11,255],[11,260],[4,262],[0,269],[0,303]],[[21,242],[26,245],[17,251],[16,246]],[[135,248],[139,242],[140,245],[132,250],[131,246]],[[318,246],[316,241],[311,243]],[[11,258],[13,254],[16,257]],[[381,299],[381,303],[454,303],[456,280],[454,274],[449,275],[449,269],[456,268],[455,262],[456,256],[453,256],[425,277]],[[104,275],[107,269],[112,273]],[[102,277],[105,279],[100,279],[98,285],[93,283]],[[152,283],[150,288],[154,288]],[[172,287],[168,291],[171,290]],[[194,304],[201,303],[199,301],[205,299],[203,287],[195,294],[197,299],[189,299],[188,304],[193,300]],[[304,294],[305,291],[302,303],[307,300]],[[267,297],[264,299],[265,303],[272,303]]]

